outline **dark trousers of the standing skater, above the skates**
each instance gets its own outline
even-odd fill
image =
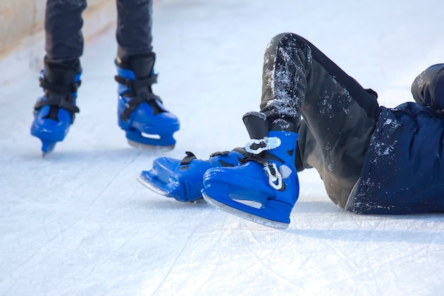
[[[117,0],[117,55],[152,51],[152,0]],[[48,0],[45,14],[45,50],[51,62],[78,62],[83,54],[82,12],[86,0]],[[94,21],[94,20],[92,20]]]

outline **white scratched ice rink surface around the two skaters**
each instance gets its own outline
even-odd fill
[[[273,35],[303,35],[396,106],[444,61],[443,15],[442,0],[155,1],[154,88],[182,124],[169,153],[131,148],[116,124],[113,28],[87,41],[81,113],[45,159],[29,133],[43,43],[5,57],[0,295],[443,295],[443,214],[348,214],[306,170],[279,231],[136,180],[160,156],[248,141],[241,118],[258,110]]]

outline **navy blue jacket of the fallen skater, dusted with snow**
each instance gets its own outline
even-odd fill
[[[345,209],[358,214],[444,212],[444,65],[421,73],[412,94],[416,103],[381,107]]]

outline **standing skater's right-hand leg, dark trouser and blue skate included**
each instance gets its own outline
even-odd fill
[[[179,120],[153,94],[157,82],[152,52],[152,0],[118,0],[118,125],[131,146],[174,148]]]

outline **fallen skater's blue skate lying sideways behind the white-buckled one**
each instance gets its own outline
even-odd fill
[[[202,198],[204,188],[202,177],[209,168],[233,167],[242,158],[248,156],[243,148],[231,151],[216,152],[209,160],[200,160],[187,151],[182,160],[174,158],[157,158],[151,170],[140,173],[138,180],[150,190],[173,197],[179,202],[194,202]]]

